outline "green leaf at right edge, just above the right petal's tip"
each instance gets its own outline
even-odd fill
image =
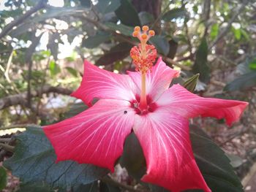
[[[256,72],[249,72],[243,74],[233,80],[232,82],[227,83],[224,91],[244,91],[246,89],[256,86]]]

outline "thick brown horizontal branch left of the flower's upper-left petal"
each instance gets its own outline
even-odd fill
[[[59,93],[63,95],[70,95],[72,91],[67,88],[45,85],[42,88],[38,88],[35,91],[31,91],[31,97],[42,96],[42,94],[44,93]],[[27,102],[28,102],[27,93],[20,93],[12,96],[6,96],[0,99],[0,110],[3,110],[4,108],[17,105],[17,104],[26,105]]]

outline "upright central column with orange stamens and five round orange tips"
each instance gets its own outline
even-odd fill
[[[143,26],[142,31],[139,26],[135,27],[135,31],[132,33],[133,37],[137,37],[140,40],[138,46],[132,47],[130,55],[135,64],[136,71],[141,74],[141,93],[140,93],[140,110],[148,110],[148,102],[146,98],[146,74],[151,71],[154,61],[157,58],[157,50],[154,45],[148,45],[148,39],[154,36],[154,31],[149,30],[148,26]]]

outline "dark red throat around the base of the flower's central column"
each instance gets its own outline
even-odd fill
[[[146,99],[146,108],[140,107],[140,96],[136,96],[136,100],[131,101],[131,107],[138,115],[146,115],[148,112],[154,112],[157,109],[157,104],[152,101],[150,97]]]

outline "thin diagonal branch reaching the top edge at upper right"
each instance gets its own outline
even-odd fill
[[[208,50],[211,50],[211,48],[214,47],[214,45],[216,45],[217,42],[219,42],[219,40],[221,40],[227,34],[230,27],[232,26],[232,23],[236,20],[238,15],[241,14],[241,12],[243,12],[243,10],[246,7],[246,4],[248,4],[248,2],[249,2],[248,0],[244,0],[243,4],[241,4],[241,6],[238,7],[238,9],[236,9],[233,17],[227,23],[227,26],[219,33],[218,37],[214,40],[214,42],[211,43],[211,45],[208,47]]]

